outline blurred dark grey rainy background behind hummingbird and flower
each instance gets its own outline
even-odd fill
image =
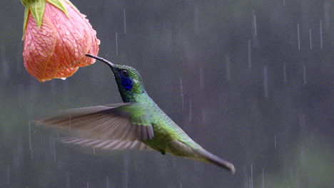
[[[332,0],[71,2],[98,55],[135,67],[151,98],[237,172],[158,152],[94,155],[29,124],[121,98],[103,63],[31,77],[17,0],[0,7],[0,187],[334,187]]]

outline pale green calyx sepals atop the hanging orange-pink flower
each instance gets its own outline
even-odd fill
[[[28,23],[29,12],[34,17],[37,26],[41,28],[41,23],[43,20],[46,1],[56,6],[58,9],[63,11],[67,17],[69,17],[69,13],[66,10],[66,7],[64,5],[64,0],[21,0],[22,4],[24,4],[24,6],[26,7],[24,11],[24,35],[26,33],[26,24]],[[69,2],[69,1],[66,1],[66,2]],[[24,38],[24,35],[22,39]]]

